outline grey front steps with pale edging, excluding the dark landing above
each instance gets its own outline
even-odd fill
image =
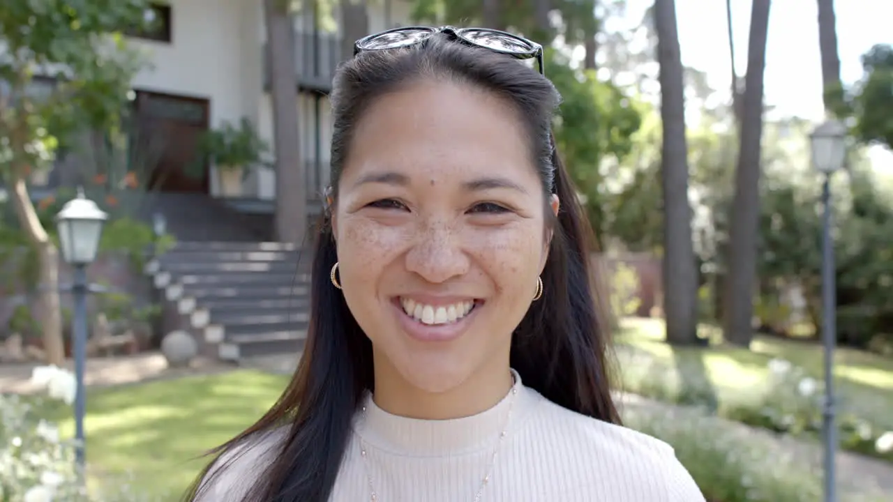
[[[179,242],[150,270],[201,352],[238,361],[304,348],[310,276],[299,257],[276,242]]]

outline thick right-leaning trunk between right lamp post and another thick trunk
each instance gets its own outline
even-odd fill
[[[760,204],[760,155],[763,137],[763,77],[770,0],[754,0],[747,47],[744,113],[740,128],[735,197],[731,207],[729,277],[723,330],[725,339],[749,347],[753,339],[756,238]]]

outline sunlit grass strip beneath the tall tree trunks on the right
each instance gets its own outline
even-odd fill
[[[751,350],[727,344],[701,347],[672,347],[664,343],[663,321],[625,319],[618,334],[617,352],[624,388],[642,392],[642,381],[661,381],[669,392],[683,388],[709,389],[720,404],[736,404],[768,379],[769,361],[786,359],[822,381],[822,346],[803,341],[757,336]],[[705,336],[720,341],[719,333],[703,328]],[[646,357],[642,357],[646,356]],[[643,369],[637,362],[653,361],[655,368],[676,368],[662,378],[636,378]],[[655,370],[656,371],[656,370]],[[893,359],[870,352],[839,347],[835,352],[835,382],[848,412],[893,429]],[[660,397],[660,396],[658,396]]]

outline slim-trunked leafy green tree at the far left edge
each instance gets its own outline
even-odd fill
[[[142,59],[121,29],[145,28],[143,0],[4,0],[0,9],[0,173],[38,252],[38,318],[46,357],[63,364],[59,256],[28,191],[33,169],[79,133],[118,126]],[[42,84],[42,85],[41,85]]]

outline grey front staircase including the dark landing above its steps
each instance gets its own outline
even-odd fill
[[[161,194],[175,246],[146,265],[162,296],[164,331],[187,330],[200,352],[228,361],[301,351],[310,253],[266,242],[255,221],[209,197]]]

